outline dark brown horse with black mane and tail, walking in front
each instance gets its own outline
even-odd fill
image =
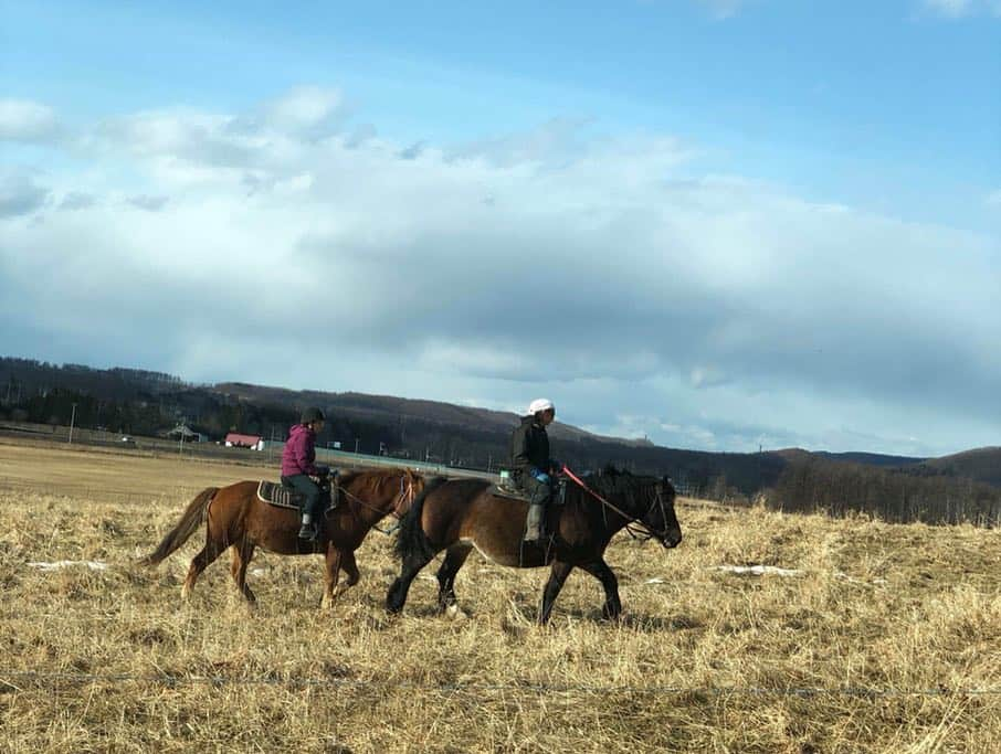
[[[455,574],[476,548],[502,565],[530,569],[550,565],[542,591],[539,623],[549,620],[552,603],[575,566],[580,566],[604,587],[602,613],[608,618],[622,612],[619,583],[604,562],[604,550],[615,532],[630,524],[644,530],[665,548],[682,541],[674,514],[675,491],[665,477],[639,477],[607,470],[587,482],[567,486],[563,505],[550,502],[547,531],[539,543],[521,541],[527,503],[492,493],[482,480],[433,479],[418,496],[400,522],[397,554],[402,561],[400,577],[386,596],[386,608],[399,613],[418,572],[441,552],[445,560],[438,572],[439,610],[455,604]],[[630,527],[630,533],[636,535]]]

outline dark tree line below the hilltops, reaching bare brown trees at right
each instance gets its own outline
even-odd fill
[[[508,463],[509,432],[496,424],[456,424],[434,417],[393,416],[380,404],[367,411],[365,397],[350,406],[330,405],[317,438],[323,447],[431,460],[497,471]],[[334,403],[344,396],[330,396]],[[284,440],[298,420],[303,396],[249,400],[208,385],[143,370],[57,367],[24,359],[0,359],[0,420],[106,429],[129,435],[162,435],[180,422],[210,439],[229,432]],[[75,413],[74,413],[75,412]],[[868,513],[887,521],[997,525],[1001,486],[957,476],[951,468],[889,468],[831,460],[805,452],[706,453],[632,446],[602,439],[552,442],[554,455],[577,470],[608,464],[636,474],[671,476],[682,493],[726,502],[762,496],[788,511]]]

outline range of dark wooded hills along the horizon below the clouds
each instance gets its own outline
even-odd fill
[[[220,439],[226,432],[284,439],[307,405],[328,415],[324,445],[399,458],[429,459],[496,470],[506,463],[512,412],[440,401],[347,392],[293,391],[223,382],[199,385],[180,378],[134,369],[93,369],[30,359],[0,358],[0,418],[107,427],[155,435],[185,421]],[[709,453],[605,437],[562,422],[550,427],[554,454],[578,469],[612,463],[641,474],[667,474],[692,493],[728,497],[772,487],[791,465],[836,463],[881,467],[921,477],[969,478],[1001,486],[1001,448],[980,448],[944,458],[873,453],[811,453],[786,448],[765,453]]]

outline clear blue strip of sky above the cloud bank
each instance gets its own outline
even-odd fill
[[[816,192],[868,194],[872,173],[976,190],[1001,172],[989,3],[472,4],[9,3],[0,82],[80,117],[335,84],[413,140],[565,115],[707,141],[720,168]]]

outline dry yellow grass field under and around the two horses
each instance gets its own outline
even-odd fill
[[[999,531],[683,500],[679,548],[608,553],[623,622],[575,572],[547,628],[546,572],[477,555],[466,616],[422,578],[390,619],[378,532],[328,613],[316,556],[259,554],[254,609],[228,555],[180,603],[200,533],[133,566],[197,491],[262,475],[0,442],[0,751],[1001,751]],[[56,561],[107,567],[30,565]],[[754,564],[794,573],[717,569]]]

